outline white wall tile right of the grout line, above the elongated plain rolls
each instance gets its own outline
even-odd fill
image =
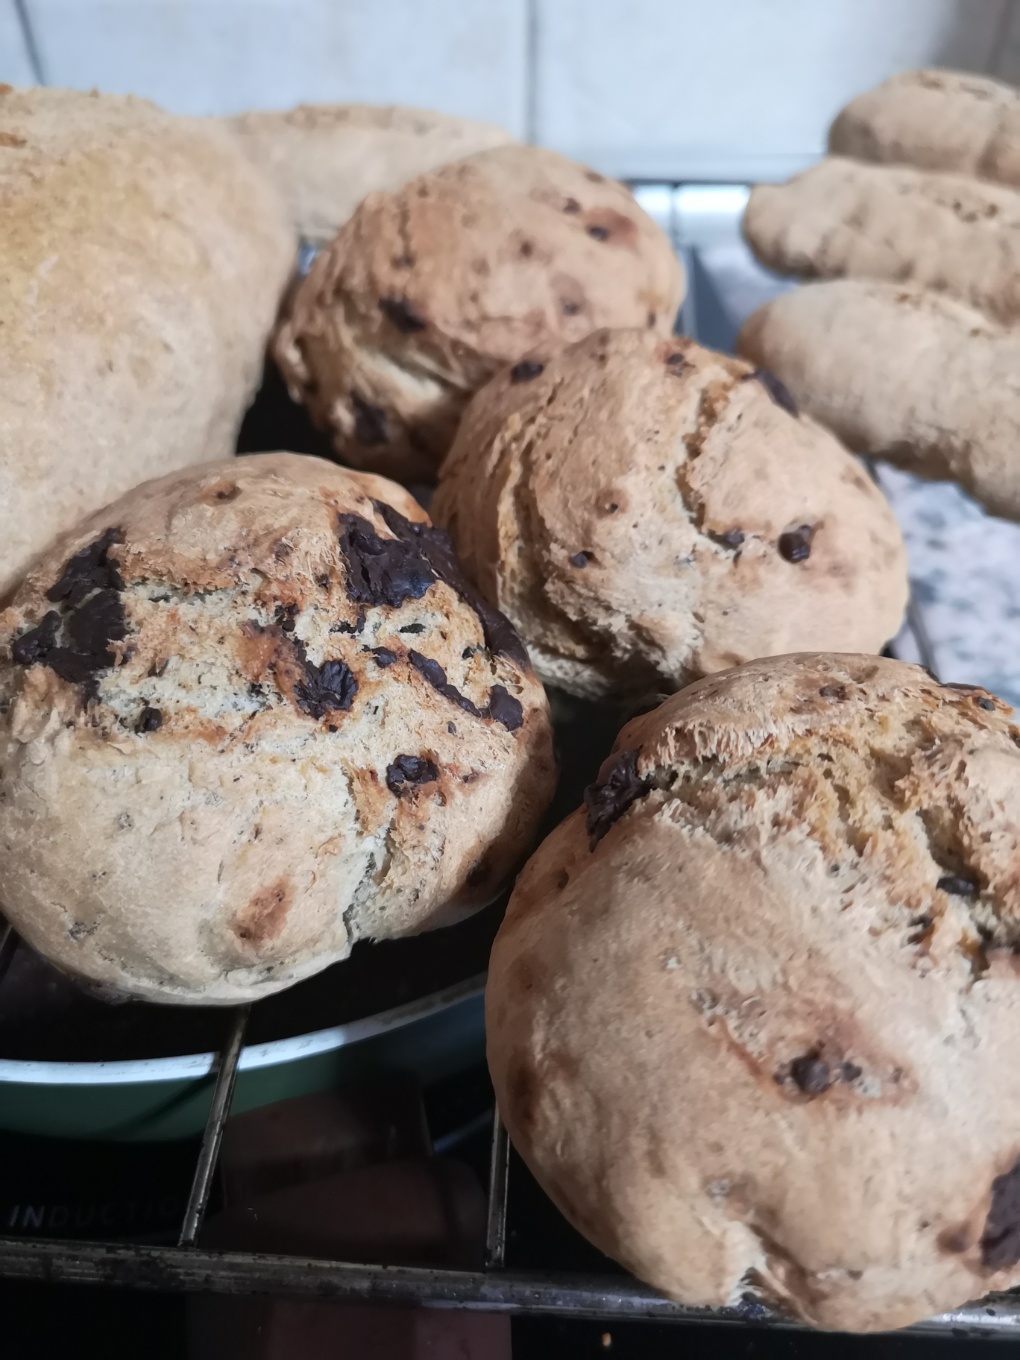
[[[537,140],[609,174],[781,177],[894,71],[987,69],[1008,0],[537,0]]]

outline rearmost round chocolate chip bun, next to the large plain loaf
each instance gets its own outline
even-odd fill
[[[536,345],[669,335],[684,275],[613,180],[509,146],[373,193],[313,262],[275,343],[337,453],[432,480],[468,398]]]

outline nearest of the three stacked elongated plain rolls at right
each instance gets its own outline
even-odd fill
[[[738,347],[851,449],[1020,518],[1020,332],[925,288],[835,279],[766,303]]]

